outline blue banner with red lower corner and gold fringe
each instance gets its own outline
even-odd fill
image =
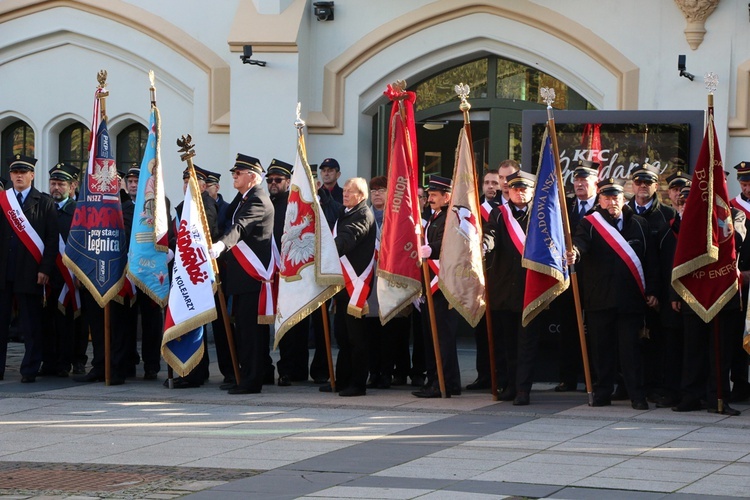
[[[523,326],[545,310],[570,284],[558,189],[552,142],[547,137],[542,148],[521,260],[526,268]]]

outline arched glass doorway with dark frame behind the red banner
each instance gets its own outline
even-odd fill
[[[521,114],[527,109],[545,109],[539,89],[555,89],[556,109],[595,109],[564,82],[501,56],[486,56],[462,63],[425,78],[409,90],[417,93],[415,118],[422,175],[450,177],[458,132],[463,115],[454,91],[458,83],[471,88],[471,129],[477,168],[496,168],[507,158],[521,161]],[[373,145],[373,175],[385,172],[387,158],[388,106],[378,110]],[[532,169],[533,170],[533,169]]]

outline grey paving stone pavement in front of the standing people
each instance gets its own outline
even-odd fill
[[[474,378],[470,344],[464,384]],[[221,377],[169,390],[164,379],[107,387],[39,377],[21,384],[10,344],[0,382],[0,498],[748,497],[750,412],[739,417],[535,384],[526,407],[411,387],[365,397],[312,382],[230,396]],[[277,353],[274,353],[277,357]],[[215,359],[215,357],[213,358]],[[140,373],[142,376],[142,373]]]

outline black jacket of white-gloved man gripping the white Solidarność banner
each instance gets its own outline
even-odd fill
[[[236,210],[236,212],[235,212]],[[254,186],[242,198],[240,194],[229,204],[230,221],[226,234],[219,241],[227,250],[244,241],[255,252],[264,266],[271,260],[271,238],[273,238],[273,205],[268,194],[260,186]],[[260,291],[261,282],[253,279],[242,268],[231,252],[226,253],[227,271],[224,283],[227,293],[240,295]]]

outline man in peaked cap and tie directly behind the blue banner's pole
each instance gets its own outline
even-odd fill
[[[596,181],[599,178],[599,163],[579,160],[573,170],[574,196],[568,200],[568,221],[570,234],[575,234],[578,224],[587,213],[596,206]],[[581,285],[581,270],[578,274],[578,285]],[[575,299],[572,284],[550,305],[555,322],[559,325],[560,383],[555,392],[575,391],[578,387],[578,375],[583,371],[581,341],[578,333],[578,321],[573,311]]]

